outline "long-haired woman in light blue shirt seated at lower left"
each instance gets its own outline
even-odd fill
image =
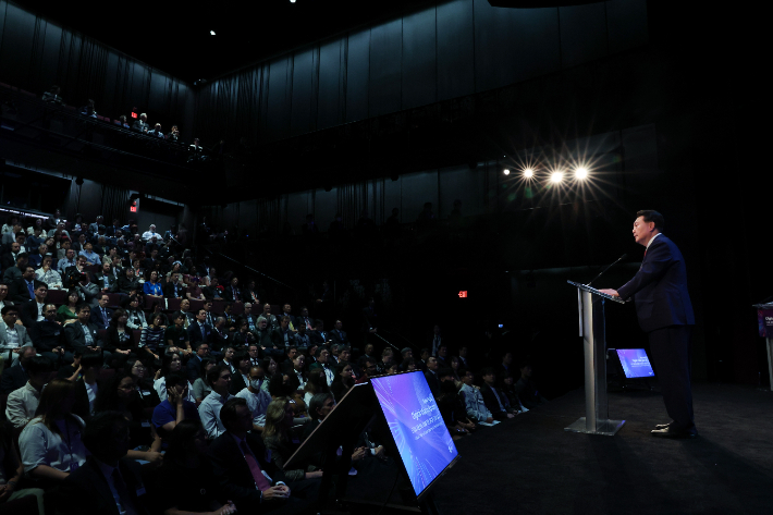
[[[53,379],[40,394],[35,418],[19,437],[25,474],[46,489],[63,481],[86,463],[88,451],[81,441],[85,425],[72,414],[75,383]]]

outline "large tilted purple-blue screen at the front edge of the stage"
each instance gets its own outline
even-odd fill
[[[458,452],[420,371],[370,380],[400,456],[419,495]]]

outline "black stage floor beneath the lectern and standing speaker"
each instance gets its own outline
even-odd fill
[[[652,383],[657,389],[657,382]],[[649,434],[670,421],[657,392],[610,393],[615,437],[564,431],[576,390],[456,442],[434,490],[442,515],[773,513],[773,393],[694,384],[695,440]]]

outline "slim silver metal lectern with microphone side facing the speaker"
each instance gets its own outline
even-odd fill
[[[564,430],[614,437],[625,420],[610,420],[606,402],[604,301],[619,304],[625,304],[625,301],[601,293],[586,284],[572,281],[568,283],[577,287],[579,334],[582,336],[585,351],[585,417]]]

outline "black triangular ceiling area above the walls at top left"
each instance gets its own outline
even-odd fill
[[[16,0],[186,81],[211,79],[237,68],[406,12],[428,0],[258,0],[254,2],[71,2]],[[110,12],[106,15],[106,12]],[[211,36],[210,30],[216,35]]]

